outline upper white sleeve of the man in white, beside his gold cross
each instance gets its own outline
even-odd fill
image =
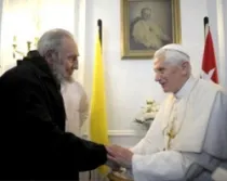
[[[151,154],[164,148],[164,135],[162,134],[161,115],[157,114],[145,138],[143,138],[134,147],[130,148],[134,154]]]

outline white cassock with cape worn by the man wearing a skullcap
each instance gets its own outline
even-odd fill
[[[190,77],[166,98],[145,138],[131,148],[134,181],[210,181],[227,159],[226,114],[224,90]]]

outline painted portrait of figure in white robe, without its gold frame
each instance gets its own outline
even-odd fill
[[[171,1],[130,2],[130,49],[158,50],[173,41]]]

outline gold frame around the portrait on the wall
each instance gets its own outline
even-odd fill
[[[129,23],[129,2],[132,0],[121,0],[121,59],[122,60],[132,60],[132,59],[142,59],[151,60],[155,51],[148,50],[130,50],[130,39],[129,31],[130,27]],[[135,0],[134,0],[135,1]],[[142,0],[138,0],[142,1]],[[171,0],[172,1],[172,37],[173,42],[181,43],[182,35],[181,35],[181,15],[179,15],[179,0]]]

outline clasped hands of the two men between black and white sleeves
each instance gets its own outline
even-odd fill
[[[107,163],[112,170],[120,170],[121,167],[131,169],[133,153],[119,145],[107,145]]]

